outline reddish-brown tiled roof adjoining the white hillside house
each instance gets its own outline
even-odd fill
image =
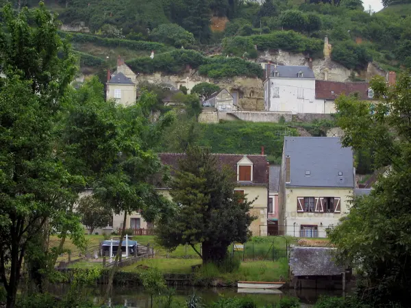
[[[337,81],[315,81],[316,99],[336,99],[341,94],[349,95],[358,93],[360,99],[369,99],[368,82],[337,82]]]

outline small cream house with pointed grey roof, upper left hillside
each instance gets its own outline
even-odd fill
[[[121,105],[132,105],[136,102],[137,88],[136,84],[125,77],[123,73],[111,75],[107,81],[106,99],[115,99]]]

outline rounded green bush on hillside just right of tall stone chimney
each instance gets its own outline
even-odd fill
[[[351,69],[364,69],[373,60],[364,44],[356,44],[351,40],[335,44],[331,57],[335,62]]]

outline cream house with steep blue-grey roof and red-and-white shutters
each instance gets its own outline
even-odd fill
[[[285,137],[279,182],[286,235],[325,238],[347,213],[355,188],[353,151],[340,138]]]

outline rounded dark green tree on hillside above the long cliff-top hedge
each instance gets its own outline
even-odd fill
[[[151,38],[174,47],[189,47],[195,43],[194,35],[175,23],[159,25],[151,32]]]

